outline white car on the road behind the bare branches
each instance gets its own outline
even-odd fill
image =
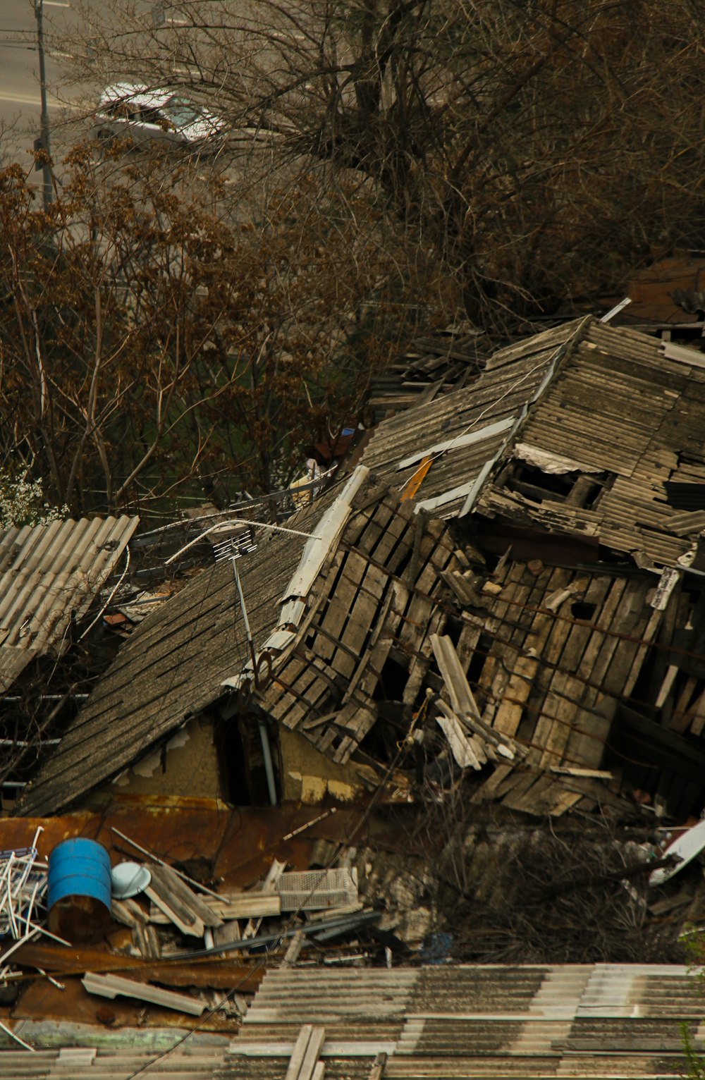
[[[214,153],[222,146],[225,131],[219,117],[173,91],[119,82],[100,95],[91,134]]]

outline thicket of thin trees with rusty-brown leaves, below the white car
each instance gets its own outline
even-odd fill
[[[77,149],[48,213],[0,173],[3,460],[74,512],[281,486],[405,333],[393,245],[301,185],[228,221],[188,167],[122,152]]]

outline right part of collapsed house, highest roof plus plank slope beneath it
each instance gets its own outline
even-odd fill
[[[586,319],[370,442],[364,461],[477,553],[461,662],[483,720],[527,748],[487,782],[507,805],[569,804],[558,769],[595,770],[598,798],[624,781],[702,807],[704,419],[702,353]]]

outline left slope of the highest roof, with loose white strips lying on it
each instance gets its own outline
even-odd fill
[[[434,458],[416,497],[435,516],[456,516],[584,322],[503,349],[471,387],[384,420],[370,438],[364,464],[389,476],[402,491],[415,481],[424,458]]]

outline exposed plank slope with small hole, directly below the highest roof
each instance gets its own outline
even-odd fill
[[[620,699],[636,685],[663,619],[648,604],[653,579],[541,563],[529,568],[517,559],[507,559],[496,579],[500,592],[486,597],[474,652],[466,650],[461,663],[447,638],[434,642],[450,708],[465,735],[491,731],[515,752],[513,761],[496,765],[475,799],[554,815],[618,800],[619,777],[600,767]],[[473,661],[477,681],[471,688],[465,672]],[[669,678],[666,671],[662,694],[673,690]],[[695,689],[681,690],[691,723],[700,711],[700,699],[690,703]],[[460,764],[457,732],[453,739]],[[492,745],[487,734],[485,742]]]

